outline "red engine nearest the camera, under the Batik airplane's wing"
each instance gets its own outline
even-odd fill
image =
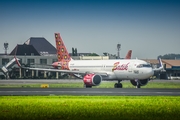
[[[96,74],[86,74],[83,81],[86,86],[97,86],[101,83],[102,77]]]

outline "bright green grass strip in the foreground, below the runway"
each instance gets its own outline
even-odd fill
[[[180,96],[1,96],[0,120],[179,120]]]

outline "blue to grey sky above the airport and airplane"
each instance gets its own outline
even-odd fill
[[[60,32],[69,52],[103,52],[151,59],[180,54],[178,0],[1,0],[0,53],[30,37],[45,37],[55,46]]]

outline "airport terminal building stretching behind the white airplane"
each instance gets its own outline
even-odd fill
[[[72,56],[73,59],[81,60],[107,60],[115,59],[109,56],[86,56],[88,53],[80,53],[79,56]],[[52,68],[51,64],[57,61],[56,48],[44,37],[31,37],[24,44],[18,44],[10,54],[0,54],[0,67],[6,65],[16,55],[25,66]],[[71,55],[71,54],[70,54]],[[158,67],[158,60],[143,59]],[[156,73],[160,79],[180,78],[180,60],[162,60],[165,71]],[[16,64],[9,69],[9,78],[61,78],[60,73],[46,73],[44,71],[21,70]],[[2,75],[2,72],[1,74]]]

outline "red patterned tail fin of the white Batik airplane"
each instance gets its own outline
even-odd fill
[[[56,40],[56,49],[57,49],[57,57],[58,61],[70,61],[71,57],[64,45],[64,42],[60,36],[60,33],[55,33],[55,40]]]

